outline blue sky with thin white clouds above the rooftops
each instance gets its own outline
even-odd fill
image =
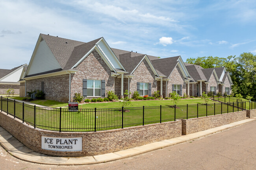
[[[253,0],[0,0],[0,68],[29,63],[40,33],[161,58],[256,54]]]

